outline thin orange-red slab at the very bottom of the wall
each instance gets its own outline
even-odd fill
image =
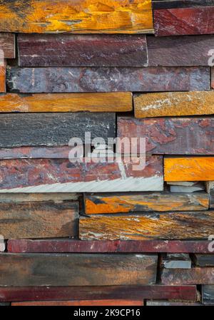
[[[12,302],[11,306],[143,306],[143,300],[76,300]]]

